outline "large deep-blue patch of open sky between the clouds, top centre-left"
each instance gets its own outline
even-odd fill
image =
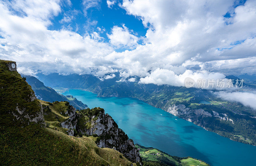
[[[96,6],[89,8],[86,15],[83,11],[84,5],[82,1],[71,0],[71,3],[71,5],[64,3],[59,15],[52,19],[53,24],[49,26],[49,29],[60,30],[63,27],[70,26],[73,28],[73,31],[78,29],[76,32],[83,35],[86,33],[90,34],[94,31],[98,32],[97,27],[100,27],[101,29],[105,29],[105,32],[100,34],[104,37],[105,41],[108,41],[106,33],[110,34],[113,26],[122,26],[125,24],[137,36],[145,36],[147,32],[148,28],[143,26],[142,20],[127,14],[127,11],[118,6],[120,2],[116,2],[109,8],[106,1],[100,1]],[[70,22],[60,22],[65,16],[73,16],[74,18]]]

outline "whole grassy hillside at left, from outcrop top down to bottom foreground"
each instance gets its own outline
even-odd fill
[[[28,125],[25,118],[26,123],[15,119],[12,112],[15,112],[17,105],[25,109],[24,113],[30,117],[36,115],[41,110],[41,106],[39,100],[30,101],[31,94],[34,94],[33,90],[18,72],[9,71],[6,63],[10,62],[0,60],[0,165],[128,166],[132,164],[123,156],[120,158],[122,154],[116,150],[97,147],[91,138],[76,138],[64,134],[65,132],[52,130],[50,126],[53,128],[60,123],[54,117],[46,118],[49,120],[47,122],[50,124],[49,128],[35,122]],[[53,113],[60,116],[61,120],[68,118],[63,114],[67,109],[63,103],[59,102],[52,106]],[[47,105],[47,102],[44,104]]]

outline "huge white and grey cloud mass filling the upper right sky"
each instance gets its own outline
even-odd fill
[[[146,34],[149,44],[137,47],[129,54],[138,57],[143,55],[143,49],[147,58],[158,57],[158,60],[151,60],[151,66],[159,62],[158,67],[164,69],[167,69],[164,64],[198,64],[203,70],[225,74],[248,72],[250,69],[239,65],[239,62],[247,62],[251,69],[256,68],[252,60],[256,53],[256,1],[248,0],[236,7],[234,17],[228,19],[231,23],[227,25],[223,15],[232,5],[233,1],[228,0],[197,3],[124,0],[122,6],[127,13],[139,17],[149,28]],[[246,19],[242,19],[245,15]],[[232,45],[241,40],[244,42]],[[225,61],[237,63],[234,65]],[[209,66],[213,62],[214,65]],[[221,64],[230,70],[222,70]]]

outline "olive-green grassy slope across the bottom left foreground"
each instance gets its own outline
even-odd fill
[[[87,137],[76,138],[38,126],[1,126],[0,165],[131,165],[116,150],[99,148]]]

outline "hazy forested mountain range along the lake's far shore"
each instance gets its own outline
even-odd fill
[[[116,73],[116,75],[118,75]],[[256,112],[239,102],[226,101],[215,90],[141,84],[116,76],[100,80],[92,75],[37,74],[50,87],[86,89],[98,96],[132,97],[231,140],[256,145]],[[228,76],[228,78],[237,78]],[[239,78],[238,78],[239,79]],[[243,89],[253,89],[246,82]]]

